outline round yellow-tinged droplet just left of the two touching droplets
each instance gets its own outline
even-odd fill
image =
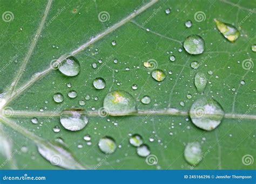
[[[112,137],[103,137],[99,140],[98,143],[100,151],[102,151],[105,154],[112,154],[116,148],[116,142]]]

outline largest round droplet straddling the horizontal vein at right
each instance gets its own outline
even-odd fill
[[[191,121],[203,130],[211,131],[217,128],[223,117],[223,108],[212,98],[199,98],[190,108]]]

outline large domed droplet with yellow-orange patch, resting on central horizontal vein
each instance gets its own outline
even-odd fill
[[[137,112],[136,100],[123,90],[110,91],[103,102],[103,107],[111,116],[129,115]]]

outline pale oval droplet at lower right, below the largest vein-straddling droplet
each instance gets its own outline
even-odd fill
[[[184,157],[188,164],[196,166],[202,160],[202,150],[198,142],[188,143],[185,147]]]

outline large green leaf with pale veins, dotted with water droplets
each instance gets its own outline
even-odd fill
[[[254,169],[255,6],[226,0],[1,1],[1,168]],[[188,20],[192,26],[186,27]],[[235,27],[239,38],[228,41],[214,20]],[[204,40],[203,53],[183,47],[192,35]],[[75,64],[65,60],[70,56]],[[155,80],[156,71],[164,80]],[[194,85],[196,73],[207,78],[203,94]],[[99,77],[105,86],[96,89]],[[116,90],[130,100],[109,98],[107,109],[105,96]],[[59,93],[63,101],[57,103],[53,95]],[[148,103],[141,102],[144,96]],[[190,119],[200,99],[214,99],[224,110],[214,130]],[[206,119],[219,117],[203,105]],[[65,129],[59,119],[65,109],[85,110],[86,126]],[[140,147],[129,143],[133,135],[143,141]],[[110,152],[99,148],[106,137]],[[201,148],[193,162],[184,158],[189,143]]]

